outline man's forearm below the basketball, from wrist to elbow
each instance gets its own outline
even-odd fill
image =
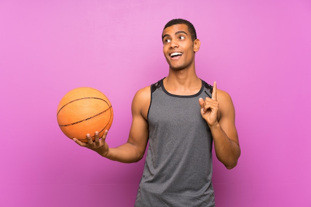
[[[106,154],[102,156],[123,163],[138,162],[144,156],[144,152],[140,151],[134,144],[125,143],[118,147],[109,148]]]

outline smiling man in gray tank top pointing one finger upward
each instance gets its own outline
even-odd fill
[[[136,207],[213,207],[212,144],[217,158],[231,169],[240,155],[231,97],[195,72],[200,49],[193,25],[169,21],[162,32],[167,77],[139,90],[132,102],[127,143],[109,148],[95,133],[79,145],[120,162],[137,162],[149,149]]]

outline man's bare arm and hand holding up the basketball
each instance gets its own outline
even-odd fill
[[[75,138],[74,140],[80,146],[94,150],[101,156],[111,160],[125,163],[141,160],[144,156],[149,137],[147,114],[150,100],[150,87],[145,87],[135,94],[132,102],[132,126],[126,143],[110,148],[106,142],[107,131],[102,138],[99,138],[98,133],[95,133],[94,141],[92,141],[89,135],[86,135],[87,143],[80,142]]]

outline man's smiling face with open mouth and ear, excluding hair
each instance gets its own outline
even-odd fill
[[[200,41],[192,41],[187,25],[175,24],[166,27],[162,40],[163,53],[170,69],[194,68],[194,56],[200,48]]]

